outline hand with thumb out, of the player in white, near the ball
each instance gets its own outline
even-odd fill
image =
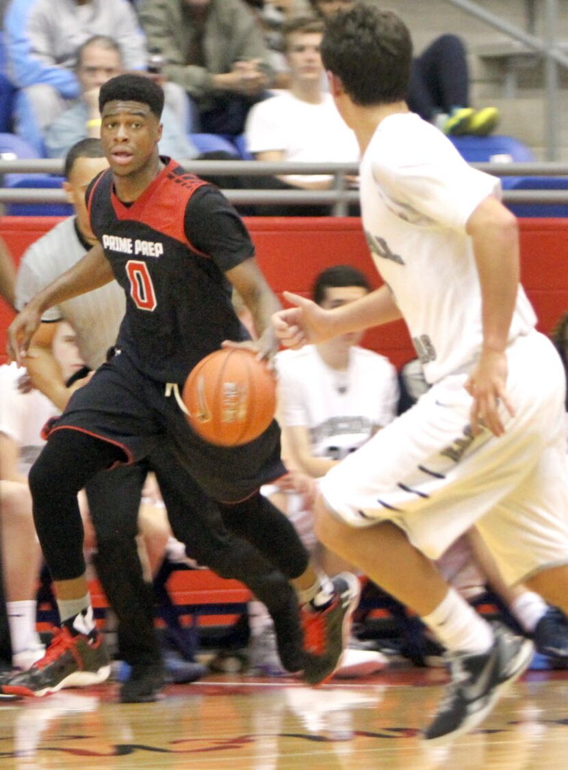
[[[295,305],[272,315],[272,326],[280,343],[298,350],[309,343],[319,343],[333,336],[329,311],[299,294],[285,291],[283,296]]]

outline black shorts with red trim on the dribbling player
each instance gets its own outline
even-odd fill
[[[50,433],[62,429],[110,441],[124,450],[129,463],[167,446],[202,490],[221,502],[245,500],[286,473],[276,421],[249,444],[209,444],[189,427],[174,395],[165,396],[165,383],[136,369],[124,352],[117,352],[75,391]]]

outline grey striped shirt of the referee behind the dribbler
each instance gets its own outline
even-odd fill
[[[16,307],[22,310],[32,296],[58,278],[85,256],[89,246],[79,239],[75,217],[55,225],[32,243],[20,263],[16,279]],[[125,314],[125,296],[116,281],[100,289],[65,300],[47,310],[43,321],[65,320],[77,333],[79,350],[85,363],[96,369],[114,345]]]

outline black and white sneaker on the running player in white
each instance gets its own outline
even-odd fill
[[[476,728],[496,704],[505,688],[528,667],[533,658],[532,641],[493,626],[495,641],[479,655],[449,655],[452,677],[426,741],[453,740]]]

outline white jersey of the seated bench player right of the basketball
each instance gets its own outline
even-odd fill
[[[345,372],[327,366],[314,345],[275,360],[282,421],[308,428],[316,457],[342,460],[396,417],[396,369],[378,353],[352,347]]]

